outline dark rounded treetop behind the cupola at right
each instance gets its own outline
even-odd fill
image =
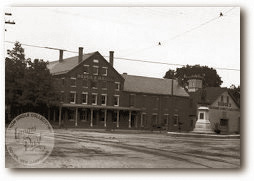
[[[172,70],[166,72],[164,78],[171,78]],[[203,87],[220,87],[222,84],[221,77],[217,74],[217,71],[208,66],[200,65],[186,65],[176,69],[175,78],[178,79],[180,85],[185,87],[188,81],[188,77],[198,75],[203,77]]]

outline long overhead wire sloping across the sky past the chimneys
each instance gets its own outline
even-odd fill
[[[12,41],[5,41],[6,43],[12,43],[14,44],[15,42]],[[44,49],[50,49],[50,50],[63,50],[60,48],[52,48],[52,47],[44,47],[44,46],[38,46],[38,45],[31,45],[31,44],[24,44],[21,43],[21,45],[28,46],[28,47],[34,47],[34,48],[44,48]],[[70,50],[63,50],[66,52],[70,53],[78,53],[76,51],[70,51]],[[103,56],[108,58],[109,56]],[[162,64],[162,65],[171,65],[171,66],[185,66],[184,64],[173,64],[173,63],[167,63],[167,62],[157,62],[157,61],[149,61],[149,60],[141,60],[141,59],[131,59],[131,58],[124,58],[124,57],[114,57],[115,59],[119,60],[126,60],[126,61],[135,61],[135,62],[142,62],[142,63],[152,63],[152,64]],[[220,67],[213,67],[214,69],[218,70],[231,70],[231,71],[240,71],[239,69],[234,69],[234,68],[220,68]]]

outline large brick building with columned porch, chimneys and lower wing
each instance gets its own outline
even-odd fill
[[[50,110],[52,124],[82,128],[192,129],[189,94],[176,80],[119,74],[99,53],[50,62],[59,108]]]

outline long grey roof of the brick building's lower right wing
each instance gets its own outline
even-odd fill
[[[124,91],[171,95],[172,79],[159,79],[122,74]],[[173,80],[173,95],[188,97],[189,94],[176,80]]]

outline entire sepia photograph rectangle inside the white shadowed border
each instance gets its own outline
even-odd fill
[[[239,6],[3,16],[5,168],[241,168]]]

